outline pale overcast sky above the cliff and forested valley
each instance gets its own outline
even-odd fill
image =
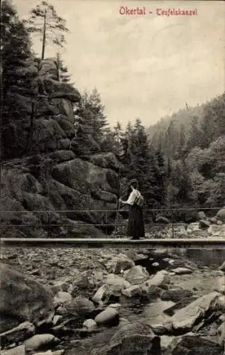
[[[40,1],[14,0],[20,17]],[[224,1],[51,0],[70,34],[62,57],[81,92],[97,87],[111,126],[141,117],[145,126],[224,91]],[[146,7],[122,16],[120,6]],[[197,9],[157,16],[155,9]],[[40,53],[40,41],[34,41]],[[53,57],[48,47],[46,56]]]

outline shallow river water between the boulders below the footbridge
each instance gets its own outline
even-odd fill
[[[212,292],[218,266],[225,260],[225,250],[180,249],[176,253],[182,258],[187,258],[198,268],[192,275],[182,275],[180,280],[175,282],[178,282],[178,285],[183,288],[196,288],[199,290],[199,295]],[[155,261],[160,264],[155,271],[165,268],[163,260],[155,258]],[[152,263],[153,261],[144,261],[141,265],[145,266],[148,272],[153,273]],[[168,320],[170,316],[165,315],[163,310],[174,305],[173,302],[160,299],[146,302],[125,297],[121,297],[119,302],[121,304],[119,308],[121,318],[126,318],[129,322],[144,322],[146,324],[158,324]],[[72,339],[71,337],[65,339],[65,344],[67,344],[65,355],[89,355],[94,347],[104,346],[118,329],[119,327],[106,328],[103,332],[92,334],[86,339]]]

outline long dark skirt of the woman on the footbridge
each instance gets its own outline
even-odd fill
[[[133,204],[130,207],[127,235],[132,236],[132,239],[139,239],[141,236],[145,236],[143,210],[137,204]]]

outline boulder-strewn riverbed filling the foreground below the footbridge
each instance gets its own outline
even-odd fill
[[[1,354],[223,355],[225,251],[198,252],[2,249]]]

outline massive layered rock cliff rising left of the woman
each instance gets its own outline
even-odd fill
[[[79,92],[57,81],[53,60],[39,67],[32,63],[29,70],[38,72],[36,94],[10,93],[24,114],[12,117],[4,131],[10,159],[1,169],[1,236],[101,236],[93,225],[105,222],[105,212],[92,210],[116,209],[119,162],[112,153],[87,160],[75,155],[73,104]],[[72,209],[78,211],[65,212]],[[107,217],[109,224],[114,222],[114,212]]]

